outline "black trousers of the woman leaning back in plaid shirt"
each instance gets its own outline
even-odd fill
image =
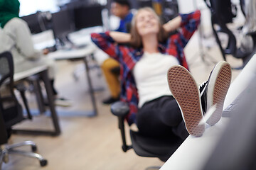
[[[139,132],[151,137],[188,137],[180,108],[173,96],[162,96],[144,103],[137,113]]]

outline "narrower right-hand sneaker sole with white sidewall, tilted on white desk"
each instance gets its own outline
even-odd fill
[[[215,65],[208,82],[207,108],[216,104],[216,110],[206,120],[208,125],[215,125],[223,113],[223,103],[231,83],[231,67],[228,62],[218,62]]]

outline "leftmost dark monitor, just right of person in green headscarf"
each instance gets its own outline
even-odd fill
[[[42,29],[38,21],[38,13],[33,13],[28,16],[22,16],[21,19],[28,23],[28,28],[31,30],[32,34],[41,33]]]

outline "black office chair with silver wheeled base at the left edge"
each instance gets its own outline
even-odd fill
[[[8,154],[21,154],[23,156],[34,157],[40,161],[41,166],[46,166],[47,160],[43,159],[40,154],[34,153],[37,149],[35,142],[25,141],[14,145],[6,145],[11,135],[11,127],[26,119],[23,116],[23,109],[14,94],[14,63],[10,52],[0,54],[0,87],[3,86],[7,86],[8,88],[0,91],[0,145],[5,145],[5,147],[0,148],[0,169],[2,162],[8,162]],[[33,152],[15,149],[16,147],[25,145],[30,145]]]

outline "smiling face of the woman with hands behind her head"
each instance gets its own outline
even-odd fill
[[[136,18],[136,28],[139,35],[149,35],[159,33],[159,19],[151,11],[139,11]]]

